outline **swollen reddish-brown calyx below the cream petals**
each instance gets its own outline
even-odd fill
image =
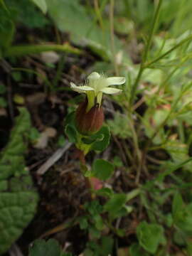
[[[84,135],[91,135],[102,127],[104,114],[102,107],[99,107],[98,104],[93,106],[88,112],[86,112],[86,109],[87,100],[82,102],[76,110],[75,124],[78,132]]]

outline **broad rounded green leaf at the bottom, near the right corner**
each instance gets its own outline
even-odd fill
[[[147,252],[155,253],[164,242],[164,228],[158,224],[149,224],[143,221],[137,226],[137,238]]]

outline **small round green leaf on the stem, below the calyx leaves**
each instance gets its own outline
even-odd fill
[[[114,166],[106,160],[96,159],[92,165],[92,175],[99,178],[102,181],[106,181],[110,178],[114,172]]]

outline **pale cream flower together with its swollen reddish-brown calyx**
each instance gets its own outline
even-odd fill
[[[77,86],[70,82],[72,90],[86,94],[85,102],[80,104],[75,114],[75,124],[80,134],[90,135],[99,131],[104,120],[102,94],[114,95],[122,92],[110,85],[122,85],[124,82],[125,78],[107,78],[97,72],[93,72],[87,77],[85,85]]]

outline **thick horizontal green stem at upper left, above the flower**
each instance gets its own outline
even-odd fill
[[[12,57],[12,56],[21,56],[28,54],[38,54],[45,51],[62,51],[64,53],[74,53],[77,55],[82,54],[82,50],[78,48],[74,48],[73,46],[68,45],[67,43],[64,45],[32,45],[32,46],[11,46],[4,51],[4,57]]]

